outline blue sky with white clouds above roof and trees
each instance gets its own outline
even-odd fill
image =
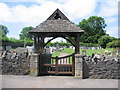
[[[59,8],[73,23],[79,24],[90,16],[105,19],[106,33],[118,37],[119,0],[0,0],[0,24],[8,37],[19,39],[23,27],[36,27]]]

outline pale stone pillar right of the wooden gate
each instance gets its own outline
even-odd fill
[[[83,62],[82,62],[82,55],[75,54],[75,77],[76,78],[83,78]]]

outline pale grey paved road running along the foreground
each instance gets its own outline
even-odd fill
[[[115,79],[75,79],[72,76],[2,75],[2,88],[118,88]]]

